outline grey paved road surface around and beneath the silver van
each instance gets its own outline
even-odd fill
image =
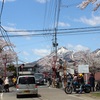
[[[66,94],[63,90],[57,88],[39,87],[38,97],[22,97],[17,99],[15,88],[10,88],[9,93],[1,93],[0,100],[96,100],[84,96],[84,94]]]

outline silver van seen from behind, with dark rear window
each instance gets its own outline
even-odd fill
[[[33,75],[19,76],[16,84],[16,97],[21,95],[38,95],[38,87]]]

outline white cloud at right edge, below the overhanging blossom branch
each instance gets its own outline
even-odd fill
[[[96,26],[100,25],[100,16],[92,16],[92,18],[81,17],[80,22],[85,23],[87,25]]]

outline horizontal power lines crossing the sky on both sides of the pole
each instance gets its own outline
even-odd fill
[[[54,30],[50,29],[49,31],[45,30],[15,30],[15,31],[8,31],[6,32],[40,32],[40,33],[33,33],[33,34],[25,34],[25,35],[8,35],[8,37],[25,37],[25,36],[53,36]],[[51,31],[51,32],[50,32]],[[91,33],[90,33],[91,32]],[[87,34],[93,34],[92,32],[100,32],[100,26],[97,27],[82,27],[82,28],[69,28],[69,29],[58,29],[57,35],[86,35]],[[82,33],[82,34],[81,34]],[[7,37],[6,35],[0,36],[0,37]]]

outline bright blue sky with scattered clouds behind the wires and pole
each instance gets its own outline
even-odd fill
[[[62,0],[58,29],[100,26],[100,8],[93,11],[95,4],[89,4],[84,10],[77,6],[83,0]],[[98,0],[100,2],[100,0]],[[56,0],[5,0],[1,25],[5,30],[43,30],[54,28],[54,3]],[[1,6],[2,0],[0,0]],[[8,32],[8,35],[38,34],[30,32]],[[93,34],[58,35],[59,47],[69,50],[91,51],[100,48],[100,31]],[[10,37],[16,46],[20,60],[33,62],[53,50],[51,35]]]

